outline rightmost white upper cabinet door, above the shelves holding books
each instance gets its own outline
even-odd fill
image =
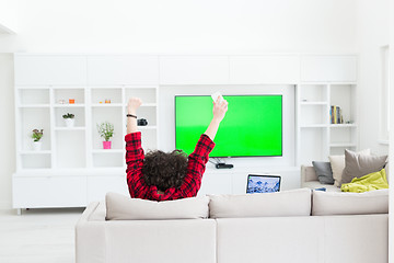
[[[356,56],[302,56],[301,81],[356,82]]]

